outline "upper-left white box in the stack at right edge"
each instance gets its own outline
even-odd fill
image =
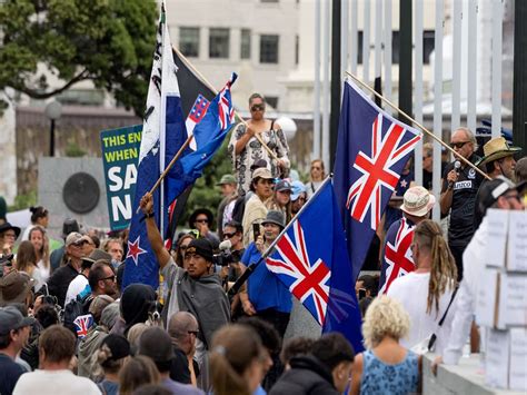
[[[505,267],[505,250],[507,247],[508,211],[496,208],[487,210],[487,243],[485,248],[485,265]],[[490,243],[491,240],[491,243]]]

